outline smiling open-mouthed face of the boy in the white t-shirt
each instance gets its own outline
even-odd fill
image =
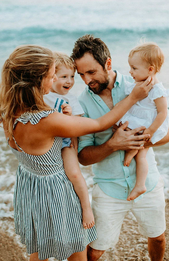
[[[51,92],[57,92],[65,95],[74,85],[75,72],[73,69],[67,69],[62,66],[57,72],[56,76],[58,80],[53,83]]]

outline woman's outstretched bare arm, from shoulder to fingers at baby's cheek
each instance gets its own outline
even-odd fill
[[[105,131],[115,124],[138,100],[146,97],[152,85],[153,79],[148,77],[145,82],[137,84],[131,94],[120,101],[118,106],[97,119],[68,117],[60,113],[50,114],[46,120],[48,133],[68,138]]]

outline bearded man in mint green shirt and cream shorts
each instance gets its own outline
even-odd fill
[[[112,70],[110,52],[99,38],[92,35],[79,38],[71,57],[76,63],[77,73],[88,85],[79,97],[85,117],[100,117],[126,97],[125,81],[133,82],[133,78]],[[136,217],[140,232],[148,237],[151,260],[161,261],[164,256],[164,182],[150,148],[147,153],[147,192],[144,197],[141,195],[134,201],[126,200],[135,185],[136,170],[134,159],[129,167],[123,165],[124,150],[140,149],[138,138],[134,136],[136,129],[125,131],[126,127],[127,123],[124,123],[114,135],[110,128],[102,133],[79,138],[79,162],[82,165],[93,164],[92,170],[95,174],[92,209],[98,238],[90,243],[88,248],[90,261],[98,260],[106,249],[115,246],[123,219],[129,210]],[[169,134],[155,145],[165,144],[168,140]]]

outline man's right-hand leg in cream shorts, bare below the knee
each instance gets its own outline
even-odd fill
[[[133,202],[133,201],[132,201]],[[139,223],[140,233],[148,237],[148,252],[152,261],[162,261],[165,251],[165,197],[161,176],[155,188],[146,193],[131,209]]]

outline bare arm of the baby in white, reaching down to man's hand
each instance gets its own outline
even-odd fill
[[[146,141],[150,142],[151,138],[158,130],[158,128],[161,126],[161,124],[165,121],[165,118],[167,117],[167,98],[166,97],[160,97],[154,100],[156,107],[157,107],[157,117],[153,121],[153,123],[144,130],[143,134],[149,133],[151,135],[150,138],[147,138]]]

